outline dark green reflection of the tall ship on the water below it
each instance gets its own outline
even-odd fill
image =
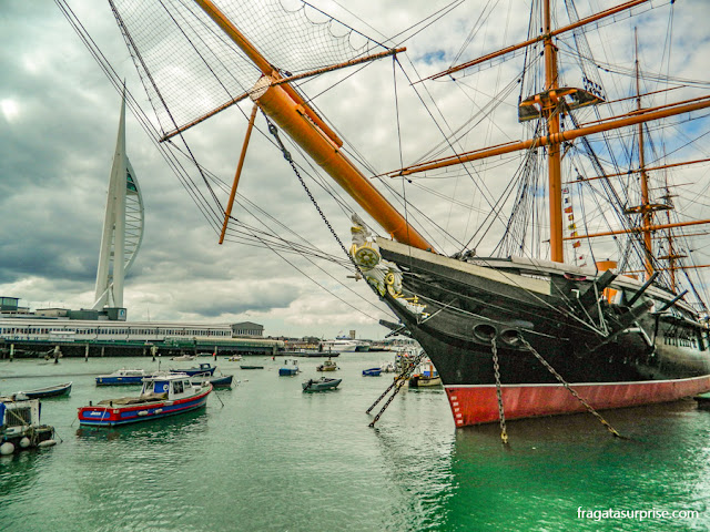
[[[692,401],[605,411],[629,440],[586,415],[456,432],[446,530],[707,530],[710,447]],[[578,519],[588,510],[697,510],[692,521]]]

